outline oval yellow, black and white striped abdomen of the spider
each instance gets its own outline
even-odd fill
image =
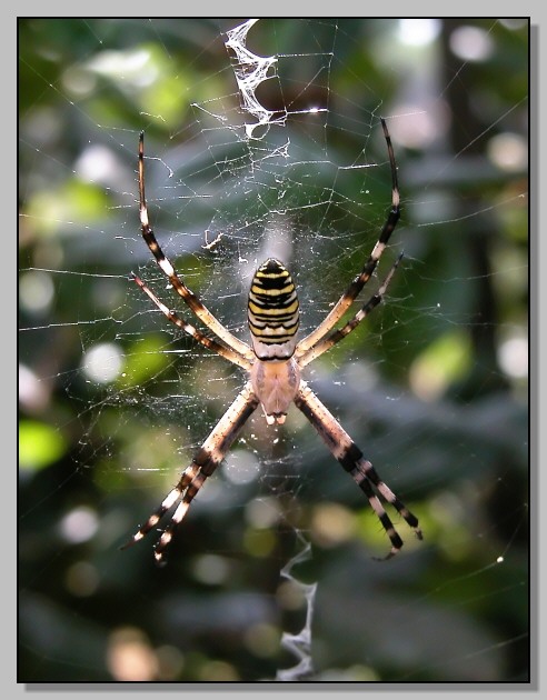
[[[300,312],[292,279],[279,260],[269,258],[256,271],[247,310],[257,358],[290,358],[295,352]]]

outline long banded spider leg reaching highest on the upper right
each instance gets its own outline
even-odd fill
[[[328,316],[319,323],[319,326],[314,331],[311,331],[311,333],[309,333],[309,336],[300,340],[295,352],[297,360],[304,357],[308,352],[308,350],[310,350],[310,348],[312,348],[317,342],[325,338],[325,336],[336,326],[336,323],[338,323],[338,321],[342,318],[349,307],[354,303],[357,296],[376,270],[376,266],[378,264],[382,252],[386,250],[389,238],[394,232],[397,222],[399,221],[400,196],[399,183],[397,179],[397,163],[395,161],[394,147],[391,146],[391,137],[389,136],[386,121],[385,119],[380,119],[380,121],[381,128],[384,129],[384,138],[386,139],[386,144],[388,149],[389,163],[391,166],[391,209],[388,213],[386,222],[384,223],[376,246],[368,257],[368,260],[365,262],[362,270],[354,279],[351,284],[340,297],[340,299],[336,302]]]

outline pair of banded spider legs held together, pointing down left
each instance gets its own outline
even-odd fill
[[[131,547],[131,544],[140,541],[158,524],[165,513],[178,502],[171,521],[163,530],[155,549],[156,562],[158,564],[165,563],[166,549],[172,540],[177,526],[186,516],[192,500],[203,486],[206,479],[215,472],[223,460],[233,440],[236,440],[258,403],[259,401],[252,391],[250,382],[247,382],[236,400],[209,433],[209,437],[201,448],[197,451],[191,464],[185,469],[177,486],[169,491],[161,506],[152,512],[145,524],[121,549],[127,549]]]

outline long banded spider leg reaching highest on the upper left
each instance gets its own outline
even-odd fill
[[[249,346],[236,336],[233,336],[220,321],[207,309],[199,298],[185,284],[183,280],[177,274],[173,264],[161,250],[160,244],[156,240],[156,236],[148,219],[148,207],[145,196],[145,132],[141,131],[139,138],[139,214],[142,230],[142,238],[148,248],[156,258],[156,262],[169,278],[175,291],[182,297],[187,306],[198,317],[198,319],[207,326],[207,328],[225,341],[227,346],[232,348],[233,352],[239,353],[242,358],[252,360],[253,354]]]

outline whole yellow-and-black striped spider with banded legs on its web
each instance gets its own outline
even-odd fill
[[[391,168],[391,209],[372,252],[327,317],[315,330],[298,342],[299,302],[291,276],[279,260],[270,258],[262,262],[252,278],[247,304],[251,336],[250,346],[233,336],[203,306],[186,286],[156,240],[149,223],[145,197],[145,134],[143,132],[140,133],[138,171],[142,237],[175,291],[212,336],[202,333],[176,311],[170,310],[135,272],[132,278],[169,321],[200,344],[242,368],[248,378],[235,401],[193,456],[189,467],[182,471],[178,483],[122,549],[141,540],[158,524],[165,513],[176,506],[171,521],[155,547],[157,563],[165,563],[166,550],[172,540],[175,530],[182,521],[205,481],[212,476],[223,460],[250,416],[261,406],[268,424],[282,424],[291,403],[295,403],[306,416],[332,456],[367,497],[391,543],[389,552],[382,559],[395,556],[402,547],[402,540],[384,509],[379,497],[399,512],[419,539],[422,538],[416,516],[380,479],[370,461],[364,457],[361,450],[332,413],[300,377],[301,370],[307,364],[348,336],[380,303],[402,257],[400,254],[395,261],[378,291],[352,318],[336,328],[375,272],[400,217],[397,166],[391,138],[386,121],[384,119],[380,121]]]

